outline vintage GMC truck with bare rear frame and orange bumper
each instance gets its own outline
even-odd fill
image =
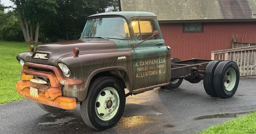
[[[171,44],[169,44],[171,45]],[[176,89],[185,79],[212,97],[232,97],[239,83],[233,61],[171,58],[155,14],[110,12],[88,17],[78,40],[30,46],[17,57],[23,67],[18,93],[47,112],[72,110],[91,128],[113,127],[126,97],[156,87]],[[125,90],[128,93],[125,94]]]

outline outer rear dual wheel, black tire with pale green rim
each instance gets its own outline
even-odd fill
[[[239,83],[239,69],[234,61],[221,61],[213,77],[214,91],[218,97],[230,98],[236,93]]]

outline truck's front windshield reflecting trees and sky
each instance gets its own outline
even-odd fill
[[[94,18],[87,20],[80,38],[83,37],[129,39],[130,33],[124,18]]]

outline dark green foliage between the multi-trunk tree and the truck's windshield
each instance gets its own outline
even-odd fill
[[[42,27],[44,42],[73,40],[80,37],[86,18],[113,7],[113,0],[58,0],[57,14]],[[115,6],[115,5],[114,5]],[[110,11],[110,10],[108,10]]]

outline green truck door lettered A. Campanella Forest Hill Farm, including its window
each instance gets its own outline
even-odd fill
[[[154,30],[161,32],[157,20],[135,19],[130,23],[134,36],[129,42],[133,54],[134,89],[170,82],[170,50],[166,48],[161,33],[157,38],[144,41]]]

